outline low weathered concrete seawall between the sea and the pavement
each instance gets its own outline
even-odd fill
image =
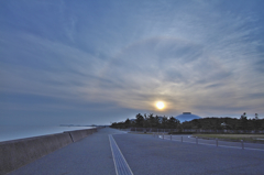
[[[76,130],[0,142],[0,175],[29,164],[96,131],[97,129]]]

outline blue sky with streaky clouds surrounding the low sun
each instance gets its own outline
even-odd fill
[[[2,0],[0,124],[110,124],[136,113],[263,118],[263,7]]]

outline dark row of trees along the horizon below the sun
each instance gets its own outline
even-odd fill
[[[201,130],[264,130],[264,119],[258,119],[255,113],[254,119],[248,119],[244,112],[240,119],[237,118],[201,118],[183,123],[174,117],[158,117],[153,113],[136,114],[135,119],[127,119],[121,122],[113,122],[111,128],[157,128],[157,129],[201,129]]]

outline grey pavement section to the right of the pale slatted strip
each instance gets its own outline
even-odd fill
[[[113,135],[135,175],[264,174],[264,152],[162,140],[145,134]]]

